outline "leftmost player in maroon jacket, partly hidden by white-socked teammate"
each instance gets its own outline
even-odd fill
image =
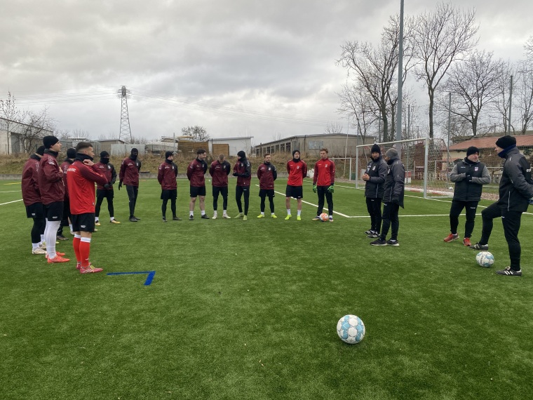
[[[46,254],[42,246],[41,233],[44,232],[46,220],[43,201],[39,191],[39,161],[44,154],[44,146],[39,147],[22,168],[22,201],[26,206],[27,218],[33,219],[32,254]],[[55,241],[54,241],[55,243]]]

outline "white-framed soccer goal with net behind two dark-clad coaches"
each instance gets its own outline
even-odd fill
[[[430,197],[450,197],[450,165],[447,161],[447,147],[443,140],[429,138],[406,139],[395,142],[376,143],[384,155],[387,149],[398,150],[400,160],[405,166],[405,189],[421,192],[424,199]],[[361,175],[370,161],[372,145],[356,146],[355,178],[356,189],[364,187]],[[451,189],[450,189],[451,188]]]

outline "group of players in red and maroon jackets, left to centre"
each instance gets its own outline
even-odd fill
[[[107,199],[109,222],[120,224],[114,218],[113,185],[116,182],[116,171],[109,162],[107,152],[100,153],[100,161],[93,162],[95,156],[93,146],[89,142],[79,142],[76,148],[67,150],[67,159],[60,166],[58,155],[61,143],[55,136],[43,138],[43,145],[27,160],[22,171],[22,199],[26,206],[27,218],[32,218],[31,232],[32,253],[44,254],[48,263],[69,262],[65,253],[56,251],[56,239],[66,240],[62,235],[62,227],[69,226],[74,235],[73,248],[76,256],[76,269],[81,274],[101,272],[102,268],[94,267],[89,262],[90,242],[96,226],[100,226],[100,207]],[[138,222],[135,216],[135,205],[139,191],[139,174],[141,161],[137,159],[138,150],[131,149],[130,156],[121,163],[119,173],[119,190],[126,186],[128,193],[130,222]],[[177,165],[173,162],[173,152],[166,152],[165,161],[158,168],[158,182],[161,185],[161,213],[163,222],[166,220],[166,210],[170,199],[170,209],[173,220],[181,220],[176,214],[177,199]],[[206,152],[199,149],[196,159],[187,168],[187,178],[190,181],[189,220],[194,220],[194,206],[199,197],[201,218],[209,219],[205,214],[205,173],[208,165],[205,162]],[[274,213],[274,181],[277,178],[276,167],[271,164],[270,154],[265,154],[264,163],[257,169],[259,178],[259,197],[261,198],[261,213],[257,218],[264,218],[265,200],[269,198],[271,218],[277,218]],[[303,179],[307,175],[307,166],[300,159],[298,150],[292,152],[292,159],[287,163],[288,185],[286,187],[285,220],[292,218],[290,199],[297,199],[297,220],[301,220]],[[227,214],[228,175],[230,164],[224,154],[209,167],[212,178],[213,219],[217,215],[219,195],[223,199],[222,218],[230,218]],[[250,200],[250,183],[252,171],[250,161],[245,152],[237,154],[237,162],[233,168],[236,177],[236,204],[238,215],[236,218],[248,219]],[[96,194],[94,185],[97,185]],[[313,175],[313,192],[318,193],[318,210],[313,220],[320,220],[323,211],[324,198],[328,202],[329,221],[333,222],[333,200],[335,184],[335,164],[328,159],[328,149],[321,149],[321,159],[315,164]],[[242,198],[244,197],[244,207]]]

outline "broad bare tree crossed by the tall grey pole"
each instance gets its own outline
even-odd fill
[[[396,79],[398,79],[398,47],[399,40],[398,15],[389,19],[389,25],[384,27],[382,38],[377,47],[372,44],[359,41],[347,41],[341,46],[341,58],[337,64],[346,68],[348,74],[355,74],[353,88],[364,88],[375,103],[377,114],[383,121],[384,140],[389,140],[389,113],[393,113],[396,93]],[[407,19],[405,24],[406,37],[410,36],[410,23]],[[406,41],[410,44],[412,41]],[[405,66],[403,68],[403,81],[410,68],[410,46],[404,49]],[[396,100],[397,101],[397,100]],[[393,124],[392,124],[393,127]],[[393,128],[392,128],[393,130]]]

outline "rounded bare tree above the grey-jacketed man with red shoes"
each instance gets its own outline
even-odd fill
[[[444,92],[452,93],[452,107],[447,96],[439,98],[440,105],[466,120],[474,136],[478,134],[481,110],[499,95],[502,65],[501,59],[492,59],[492,52],[476,50],[464,62],[450,68],[449,78],[442,86]]]

